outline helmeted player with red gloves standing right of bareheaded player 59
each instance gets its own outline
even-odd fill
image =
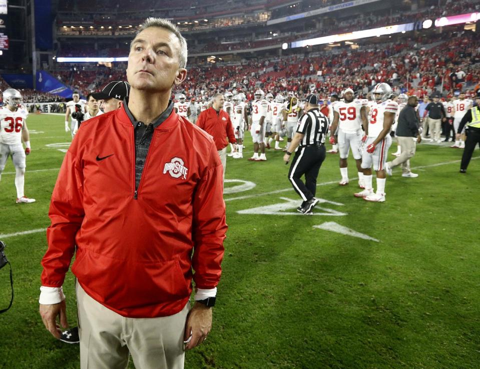
[[[368,116],[368,129],[362,140],[365,142],[362,153],[363,179],[365,189],[355,193],[355,197],[363,197],[367,201],[385,201],[385,163],[388,148],[391,145],[391,126],[398,110],[398,104],[389,97],[392,90],[387,83],[377,83],[372,90],[377,102],[372,106]],[[373,192],[372,167],[376,171],[377,191]]]

